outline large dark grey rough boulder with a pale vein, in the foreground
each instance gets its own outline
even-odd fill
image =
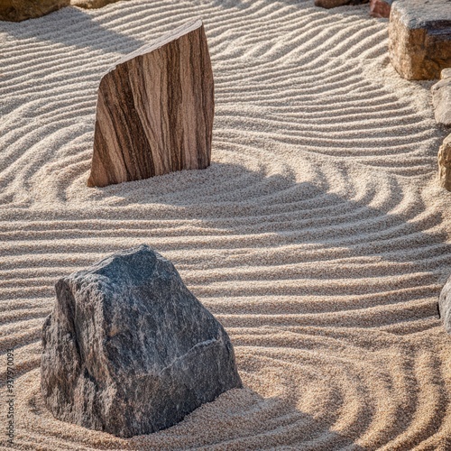
[[[56,284],[41,394],[57,418],[131,437],[241,387],[224,328],[146,245]]]

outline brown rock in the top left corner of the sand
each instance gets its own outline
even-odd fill
[[[21,22],[68,5],[70,0],[0,0],[0,20]]]

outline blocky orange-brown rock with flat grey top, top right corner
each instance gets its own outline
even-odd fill
[[[451,2],[396,0],[389,25],[391,63],[408,79],[440,77],[451,67]]]

